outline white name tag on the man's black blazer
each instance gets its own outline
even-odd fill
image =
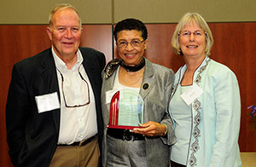
[[[48,95],[38,95],[35,99],[38,106],[38,113],[49,112],[61,107],[57,92]]]

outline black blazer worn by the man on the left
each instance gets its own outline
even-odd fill
[[[79,48],[96,100],[99,145],[102,145],[101,72],[105,55]],[[15,166],[48,166],[55,153],[60,130],[60,109],[38,113],[35,96],[57,92],[55,60],[51,49],[21,60],[13,67],[6,105],[9,156]]]

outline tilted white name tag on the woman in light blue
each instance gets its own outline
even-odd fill
[[[187,89],[183,95],[180,95],[183,101],[189,106],[191,102],[195,101],[200,95],[203,94],[201,89],[196,83],[194,83],[189,89]]]

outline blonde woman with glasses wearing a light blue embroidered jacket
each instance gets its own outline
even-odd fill
[[[213,38],[200,14],[177,24],[172,48],[185,65],[176,73],[169,112],[177,142],[174,166],[241,166],[238,147],[241,101],[234,72],[211,58]]]

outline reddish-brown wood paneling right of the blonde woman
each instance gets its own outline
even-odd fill
[[[212,59],[218,60],[236,73],[241,93],[241,129],[239,145],[242,152],[256,151],[256,134],[250,129],[247,107],[256,105],[256,23],[212,23],[215,43]],[[256,132],[256,131],[255,131]]]

